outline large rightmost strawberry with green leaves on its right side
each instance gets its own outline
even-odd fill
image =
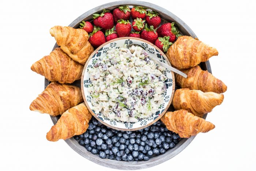
[[[162,26],[160,26],[157,29],[157,33],[159,34],[159,37],[170,37],[170,42],[174,42],[176,40],[176,37],[181,36],[181,34],[178,34],[179,31],[174,27],[174,23],[165,23]]]

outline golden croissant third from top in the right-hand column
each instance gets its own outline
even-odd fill
[[[181,88],[175,91],[172,104],[175,110],[184,109],[202,117],[212,111],[215,106],[220,105],[223,99],[223,94]]]

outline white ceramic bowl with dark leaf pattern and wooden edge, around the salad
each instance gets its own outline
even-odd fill
[[[99,57],[106,56],[108,50],[117,49],[132,43],[142,45],[144,49],[147,51],[147,53],[150,55],[150,57],[156,58],[159,61],[170,65],[170,62],[168,58],[165,56],[165,54],[157,46],[153,45],[152,43],[140,38],[122,37],[122,38],[113,39],[112,41],[108,41],[104,43],[103,45],[99,46],[91,54],[86,64],[84,65],[82,79],[81,79],[83,99],[87,108],[91,112],[91,114],[93,114],[93,116],[97,118],[98,121],[100,121],[104,125],[113,129],[125,130],[125,131],[128,131],[128,130],[132,131],[132,130],[145,128],[149,125],[152,125],[154,122],[160,119],[162,115],[165,114],[166,110],[170,106],[170,103],[172,102],[174,87],[175,87],[173,72],[168,69],[165,69],[163,74],[167,77],[167,80],[165,81],[166,91],[163,94],[164,102],[160,105],[159,110],[156,113],[152,114],[148,118],[139,119],[138,122],[122,122],[117,120],[110,120],[109,118],[105,117],[103,114],[101,113],[95,114],[94,110],[91,110],[93,107],[91,103],[91,99],[93,97],[90,95],[90,92],[88,91],[88,87],[91,84],[90,73],[88,72],[89,68],[94,67],[93,65],[99,59]]]

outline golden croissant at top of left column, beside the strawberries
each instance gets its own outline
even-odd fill
[[[73,60],[85,64],[93,46],[88,42],[88,33],[80,28],[54,26],[50,34],[55,38],[57,45]]]

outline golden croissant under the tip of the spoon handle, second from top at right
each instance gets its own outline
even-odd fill
[[[181,75],[175,74],[175,81],[181,88],[216,93],[227,91],[227,86],[221,80],[215,78],[208,71],[202,71],[198,65],[190,69],[182,69],[181,72],[184,72],[188,76],[184,78]]]

